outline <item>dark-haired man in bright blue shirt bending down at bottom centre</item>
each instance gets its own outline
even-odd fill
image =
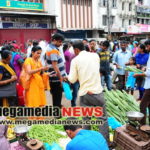
[[[72,139],[66,150],[109,150],[106,140],[99,132],[84,130],[81,125],[65,125],[64,129]]]

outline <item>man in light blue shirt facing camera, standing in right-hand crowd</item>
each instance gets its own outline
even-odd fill
[[[115,52],[113,56],[113,63],[116,65],[116,74],[119,79],[117,88],[119,90],[125,89],[125,65],[132,57],[132,53],[127,50],[126,41],[121,42],[121,50]]]

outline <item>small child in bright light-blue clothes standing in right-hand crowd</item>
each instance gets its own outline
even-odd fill
[[[134,57],[131,57],[128,63],[129,66],[136,68],[136,61]],[[126,81],[126,90],[127,92],[131,92],[134,94],[136,78],[134,78],[134,72],[127,72],[127,81]]]

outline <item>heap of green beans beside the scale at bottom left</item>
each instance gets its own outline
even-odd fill
[[[33,125],[29,130],[28,136],[48,144],[58,143],[60,138],[65,137],[58,133],[52,125]]]

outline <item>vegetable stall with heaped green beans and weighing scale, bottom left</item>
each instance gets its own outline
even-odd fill
[[[12,129],[11,150],[63,150],[70,139],[52,125],[16,125]],[[10,133],[9,133],[10,134]]]

